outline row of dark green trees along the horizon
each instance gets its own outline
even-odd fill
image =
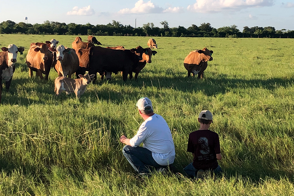
[[[131,25],[123,25],[113,20],[106,25],[85,25],[76,23],[59,23],[44,21],[43,24],[15,23],[3,21],[0,23],[0,34],[38,34],[38,35],[95,35],[95,36],[162,36],[162,37],[227,37],[227,38],[294,38],[293,30],[276,30],[275,27],[249,28],[243,27],[241,32],[236,25],[214,28],[210,23],[202,23],[200,26],[192,24],[190,27],[169,27],[167,21],[162,21],[162,28],[154,23],[143,24],[134,28]]]

